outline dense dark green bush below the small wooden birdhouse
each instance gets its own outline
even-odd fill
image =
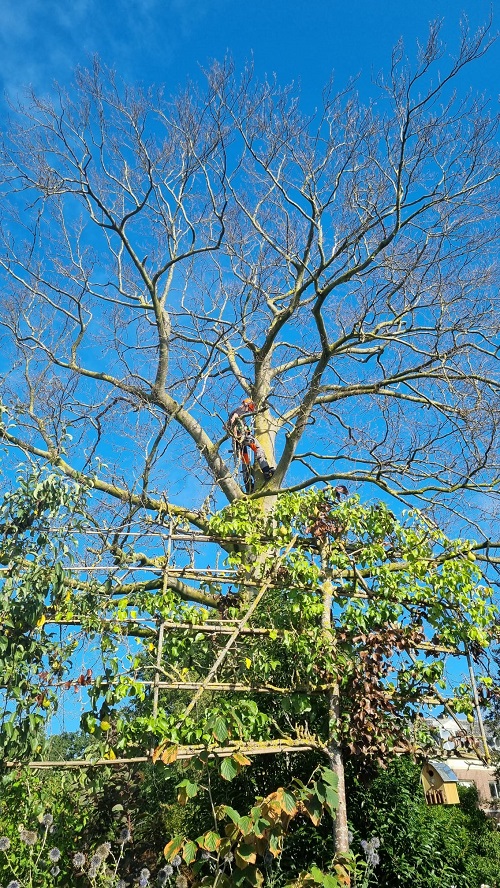
[[[420,766],[402,757],[369,782],[351,767],[348,793],[352,848],[368,835],[380,838],[377,878],[384,888],[500,885],[500,835],[477,808],[474,789],[461,790],[460,807],[429,807]]]

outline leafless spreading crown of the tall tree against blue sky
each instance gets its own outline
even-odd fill
[[[250,396],[277,466],[254,496],[336,478],[470,517],[498,484],[498,161],[457,90],[488,31],[447,61],[433,25],[378,104],[329,87],[309,116],[230,63],[174,98],[98,63],[32,94],[2,147],[4,444],[120,521],[204,526],[243,495]]]

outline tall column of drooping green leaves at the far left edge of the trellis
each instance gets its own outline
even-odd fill
[[[56,685],[71,668],[75,642],[61,639],[47,615],[73,599],[62,567],[85,514],[85,490],[39,470],[20,474],[0,503],[0,673],[5,705],[0,758],[39,753],[43,726],[57,708]],[[55,529],[59,527],[59,530]]]

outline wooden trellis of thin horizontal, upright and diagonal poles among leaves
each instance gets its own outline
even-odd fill
[[[156,535],[156,534],[155,534]],[[163,539],[165,539],[165,534],[161,534]],[[237,577],[235,571],[231,569],[212,569],[206,568],[205,570],[201,570],[199,568],[194,567],[193,565],[187,567],[179,567],[172,564],[172,544],[177,541],[183,542],[191,542],[194,544],[197,543],[211,543],[211,544],[220,544],[220,538],[214,538],[207,536],[205,534],[199,533],[174,533],[172,532],[172,528],[168,534],[167,538],[167,550],[164,563],[161,567],[158,566],[143,566],[143,567],[135,567],[135,566],[127,566],[127,567],[106,567],[104,565],[71,565],[68,570],[70,571],[80,571],[81,573],[93,573],[93,572],[101,572],[106,571],[110,575],[115,575],[118,573],[130,573],[141,571],[147,571],[148,573],[156,573],[161,579],[162,584],[161,588],[165,592],[168,587],[168,581],[170,578],[182,578],[191,581],[199,581],[199,582],[217,582],[225,585],[230,585],[233,583],[237,583],[239,586],[248,586],[252,588],[256,588],[255,581],[251,582],[250,580],[243,580]],[[222,541],[223,542],[223,541]],[[231,539],[231,542],[234,542],[234,538]],[[244,542],[244,540],[242,540]],[[273,627],[253,627],[249,626],[248,623],[255,612],[258,604],[262,600],[265,593],[275,587],[275,575],[276,571],[281,564],[281,562],[286,558],[290,550],[293,548],[296,542],[296,538],[294,538],[288,546],[286,546],[281,552],[276,553],[276,558],[273,563],[273,567],[266,577],[266,579],[262,582],[260,588],[252,598],[245,614],[239,621],[231,621],[224,620],[223,622],[220,620],[207,620],[202,624],[192,624],[189,622],[177,622],[174,620],[159,620],[155,621],[153,617],[136,617],[134,619],[126,619],[120,621],[120,626],[125,630],[124,634],[141,634],[151,637],[151,639],[156,639],[156,657],[155,664],[151,668],[154,671],[153,677],[151,680],[148,679],[140,679],[137,680],[137,684],[143,685],[144,687],[152,688],[152,713],[153,716],[156,717],[159,711],[159,701],[160,701],[160,691],[161,690],[183,690],[183,691],[194,691],[194,696],[191,701],[187,705],[184,713],[180,716],[180,721],[186,718],[189,713],[193,710],[196,703],[202,696],[205,691],[220,691],[220,692],[235,692],[235,693],[252,693],[252,694],[274,694],[274,695],[285,695],[291,693],[308,693],[308,694],[328,694],[332,690],[332,686],[328,684],[317,683],[316,685],[307,685],[307,686],[297,686],[293,688],[283,688],[277,687],[273,684],[267,682],[259,685],[256,684],[246,684],[241,682],[221,682],[216,680],[216,674],[219,670],[219,667],[224,662],[227,657],[229,651],[237,641],[239,636],[255,636],[266,638],[269,637],[271,633],[273,633],[273,637],[281,637],[287,630],[274,629]],[[1,570],[1,568],[0,568]],[[351,574],[350,571],[341,571],[340,574],[342,577],[347,577]],[[356,571],[356,575],[361,575],[361,571]],[[345,588],[337,588],[334,590],[333,597],[345,598],[346,596],[352,598],[360,598],[366,599],[369,596],[367,591],[363,591],[363,589],[357,589],[353,594],[346,590]],[[103,624],[109,622],[103,619]],[[153,625],[148,625],[148,624]],[[59,625],[59,626],[79,626],[82,625],[81,618],[79,619],[77,615],[72,617],[72,619],[67,620],[57,620],[54,617],[48,615],[45,620],[46,625]],[[222,651],[217,656],[215,662],[210,667],[207,675],[201,681],[165,681],[162,680],[162,675],[164,675],[164,670],[162,667],[162,659],[163,659],[163,651],[164,651],[164,642],[165,635],[171,632],[193,632],[193,633],[204,633],[207,635],[227,635],[229,636],[227,643],[224,645]],[[480,711],[479,699],[477,695],[477,689],[475,684],[474,670],[472,667],[472,661],[468,654],[468,651],[460,651],[454,647],[447,647],[444,645],[435,645],[430,642],[421,642],[416,646],[416,649],[420,649],[427,653],[446,653],[455,657],[466,657],[469,676],[472,684],[472,689],[474,693],[474,702],[475,702],[475,710],[477,714],[478,724],[481,732],[481,739],[483,743],[483,747],[485,750],[485,756],[488,757],[488,748],[486,743],[486,736],[484,732],[484,726],[482,721],[482,715]],[[91,683],[91,682],[89,682]],[[65,684],[61,682],[61,684]],[[102,681],[102,677],[100,678],[101,686],[105,686],[105,683]],[[421,698],[422,699],[422,698]],[[434,695],[430,695],[422,699],[422,702],[429,705],[444,705],[446,706],[448,701],[446,698],[436,689]],[[453,715],[453,713],[450,712]],[[457,721],[458,724],[458,721]],[[460,727],[462,727],[460,725]],[[239,743],[228,743],[226,745],[213,745],[208,747],[205,746],[179,746],[177,749],[176,759],[186,760],[198,756],[202,751],[208,751],[208,755],[212,757],[226,757],[234,755],[237,752],[244,753],[247,755],[264,755],[264,754],[277,754],[277,753],[292,753],[292,752],[305,752],[310,750],[325,750],[326,744],[321,743],[317,740],[317,738],[312,737],[303,737],[303,738],[281,738],[279,740],[271,740],[262,743],[255,742],[239,742]],[[145,762],[150,762],[153,759],[153,749],[150,749],[147,754],[133,756],[128,758],[114,758],[114,759],[98,759],[98,760],[89,760],[89,759],[81,759],[81,760],[66,760],[66,761],[30,761],[23,763],[24,766],[29,768],[36,769],[47,769],[47,768],[90,768],[90,767],[113,767],[113,766],[123,766],[123,765],[134,765]],[[20,762],[7,762],[7,767],[17,767],[21,764]]]

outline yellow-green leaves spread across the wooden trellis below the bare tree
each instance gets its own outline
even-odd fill
[[[136,584],[133,595],[116,595],[111,580],[75,580],[64,563],[70,566],[77,552],[72,532],[84,520],[85,495],[79,485],[41,472],[21,477],[2,506],[9,564],[0,587],[4,758],[40,754],[55,687],[77,683],[88,690],[82,728],[90,756],[153,746],[168,758],[166,750],[178,745],[264,742],[292,732],[319,746],[335,738],[352,753],[380,759],[396,746],[429,740],[418,723],[420,701],[433,685],[444,687],[445,656],[419,650],[429,628],[433,643],[452,649],[487,647],[494,631],[491,590],[471,544],[448,540],[418,513],[403,524],[383,504],[363,506],[357,497],[339,503],[328,488],[278,495],[269,512],[242,499],[212,517],[210,532],[224,539],[234,571],[236,594],[219,599],[225,615],[241,619],[255,590],[269,585],[248,624],[264,634],[241,636],[217,673],[219,682],[248,690],[206,692],[196,713],[185,715],[192,692],[182,683],[206,676],[227,636],[168,631],[162,668],[178,688],[160,692],[153,716],[148,682],[157,633],[141,618],[201,629],[210,610],[147,583]],[[48,533],[49,522],[61,533]],[[138,554],[119,550],[117,557],[128,564]],[[332,597],[333,633],[322,627],[325,595]],[[101,675],[75,677],[79,634],[65,630],[56,638],[50,621],[75,615],[81,637],[94,639]],[[263,685],[267,696],[253,693]],[[325,695],[334,685],[338,724],[329,722]],[[470,712],[471,700],[467,685],[457,688],[457,711]]]

